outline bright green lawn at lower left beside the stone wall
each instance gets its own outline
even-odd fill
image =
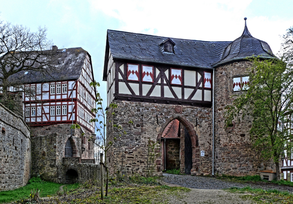
[[[0,191],[0,203],[7,203],[13,200],[27,199],[32,189],[42,189],[40,197],[46,197],[47,195],[54,195],[56,191],[60,190],[62,183],[53,183],[42,181],[40,178],[31,178],[26,186],[17,188],[12,191]],[[65,186],[64,186],[65,187]],[[69,184],[66,186],[68,190],[71,188],[77,188],[78,184]],[[40,191],[41,192],[41,191]]]

